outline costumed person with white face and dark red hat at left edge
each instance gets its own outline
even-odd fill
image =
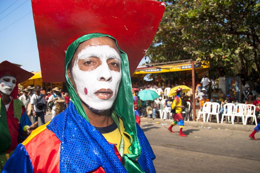
[[[33,75],[8,61],[0,63],[0,171],[18,143],[35,127],[23,103],[17,99],[17,84]]]

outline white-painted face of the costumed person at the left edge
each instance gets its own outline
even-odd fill
[[[0,78],[0,91],[10,95],[16,85],[16,78],[13,76],[3,76]]]

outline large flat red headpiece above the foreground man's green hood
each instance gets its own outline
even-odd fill
[[[32,9],[43,81],[64,82],[65,50],[88,33],[114,37],[120,49],[127,53],[133,74],[158,29],[165,3],[32,0]]]

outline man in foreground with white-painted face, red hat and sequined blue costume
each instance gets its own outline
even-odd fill
[[[165,4],[35,0],[32,9],[43,81],[66,81],[71,102],[17,146],[3,172],[155,172],[155,155],[135,123],[130,76]],[[64,50],[63,68],[50,65],[49,57],[64,60]]]

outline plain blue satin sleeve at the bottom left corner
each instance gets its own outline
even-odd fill
[[[5,163],[2,173],[33,173],[34,169],[31,159],[23,144],[18,144],[14,153]]]

